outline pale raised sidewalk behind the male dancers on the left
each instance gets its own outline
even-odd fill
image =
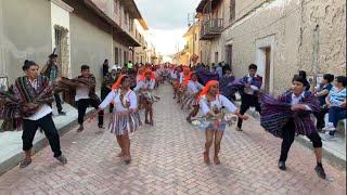
[[[59,116],[53,103],[53,120],[60,135],[64,134],[72,126],[77,125],[77,109],[68,104],[63,104],[66,116]],[[87,114],[92,109],[88,108]],[[0,121],[1,125],[2,121]],[[34,139],[33,152],[37,153],[48,144],[44,134],[39,130]],[[22,131],[0,132],[0,176],[17,166],[24,157],[22,151]]]

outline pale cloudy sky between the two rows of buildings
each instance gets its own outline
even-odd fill
[[[191,18],[201,0],[134,0],[142,17],[149,24],[154,46],[163,55],[177,52],[185,44],[188,14]]]

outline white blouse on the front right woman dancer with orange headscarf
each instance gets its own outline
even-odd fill
[[[210,110],[210,107],[214,106],[217,106],[218,109],[221,109],[221,107],[224,106],[230,113],[234,113],[237,109],[232,102],[230,102],[224,95],[221,94],[216,95],[216,100],[210,102],[209,105],[206,96],[203,96],[200,100],[198,104],[204,116],[207,115],[207,113]]]

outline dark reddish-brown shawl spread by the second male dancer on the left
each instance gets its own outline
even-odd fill
[[[59,87],[64,89],[63,91],[63,100],[69,105],[76,107],[75,96],[76,96],[76,88],[78,83],[86,84],[89,88],[89,98],[95,100],[98,104],[100,103],[100,99],[95,93],[97,80],[93,75],[89,75],[89,77],[78,76],[74,79],[62,78],[59,83]]]

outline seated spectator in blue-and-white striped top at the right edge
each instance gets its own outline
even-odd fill
[[[334,140],[338,120],[345,119],[347,115],[347,78],[345,76],[336,77],[334,88],[326,96],[326,105],[329,107],[329,123],[323,128],[329,132],[324,140]]]

